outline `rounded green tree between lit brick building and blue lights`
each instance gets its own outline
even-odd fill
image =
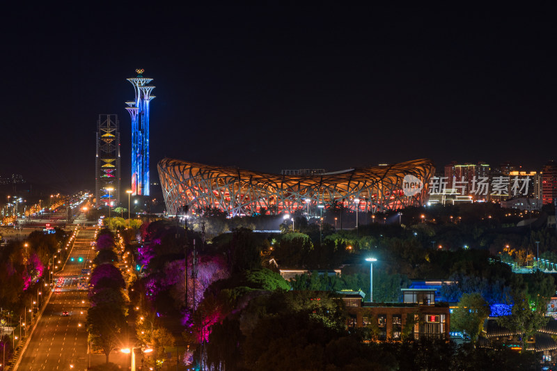
[[[483,329],[483,322],[489,317],[489,305],[479,293],[462,294],[458,307],[450,315],[450,324],[455,329],[466,331],[473,341]]]

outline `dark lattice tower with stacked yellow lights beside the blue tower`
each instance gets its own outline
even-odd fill
[[[118,115],[99,115],[95,193],[97,207],[120,203],[120,129]],[[109,191],[111,189],[111,191]]]

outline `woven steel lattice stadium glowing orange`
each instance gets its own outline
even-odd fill
[[[333,201],[363,212],[419,206],[427,201],[427,182],[435,171],[428,159],[306,176],[259,173],[168,158],[159,161],[157,169],[169,215],[175,215],[182,205],[189,205],[193,209],[216,207],[230,216],[251,215],[262,208],[278,214],[310,207],[315,210]],[[422,182],[421,189],[412,196],[402,189],[406,176]]]

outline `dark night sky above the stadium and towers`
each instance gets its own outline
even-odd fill
[[[428,157],[554,157],[554,8],[4,11],[0,175],[93,189],[100,113],[130,179],[136,68],[154,79],[151,177],[176,157],[278,172]]]

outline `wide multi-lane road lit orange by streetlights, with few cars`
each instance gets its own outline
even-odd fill
[[[81,273],[81,269],[88,269],[95,255],[91,248],[94,236],[95,228],[77,232],[65,266],[54,274],[54,285],[59,282],[59,290],[52,293],[15,370],[87,369],[85,322],[88,299],[86,291],[78,290],[78,284],[80,276],[87,276]],[[64,311],[68,315],[63,315]]]

